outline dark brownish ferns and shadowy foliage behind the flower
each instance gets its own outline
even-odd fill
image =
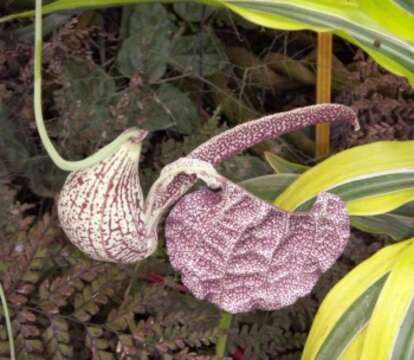
[[[15,10],[8,1],[3,13]],[[195,4],[139,5],[45,17],[44,112],[60,152],[83,158],[130,126],[151,130],[141,180],[211,136],[265,113],[315,102],[315,35],[262,29]],[[33,26],[0,32],[0,279],[20,359],[212,359],[217,308],[194,299],[162,241],[136,266],[88,259],[59,228],[66,174],[43,150],[32,110]],[[356,109],[361,130],[333,128],[334,151],[413,138],[407,82],[335,39],[333,100]],[[257,146],[220,167],[233,181],[270,173],[263,150],[313,164],[311,129]],[[332,285],[390,240],[353,232],[313,293],[274,312],[234,318],[229,356],[297,359]],[[8,342],[0,317],[0,357]]]

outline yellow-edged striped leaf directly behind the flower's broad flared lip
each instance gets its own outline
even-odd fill
[[[388,212],[413,199],[413,150],[414,141],[382,141],[342,151],[302,174],[274,203],[303,210],[330,191],[350,204],[350,215]]]

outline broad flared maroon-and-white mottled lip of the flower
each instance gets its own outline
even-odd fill
[[[311,211],[287,213],[224,182],[184,196],[167,218],[168,254],[184,285],[231,313],[308,294],[348,241],[342,201],[322,193]]]

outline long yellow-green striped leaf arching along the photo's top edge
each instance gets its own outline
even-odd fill
[[[153,2],[151,0],[57,0],[44,6],[44,13],[76,8],[105,7]],[[174,2],[166,0],[165,2]],[[356,44],[378,63],[414,83],[414,12],[410,0],[199,0],[199,3],[228,8],[265,27],[333,31]],[[13,14],[0,22],[33,11]]]

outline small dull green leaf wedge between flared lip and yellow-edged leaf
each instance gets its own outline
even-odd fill
[[[272,202],[296,178],[295,174],[264,175],[244,180],[239,185],[258,198]]]

